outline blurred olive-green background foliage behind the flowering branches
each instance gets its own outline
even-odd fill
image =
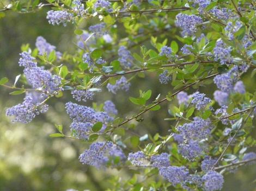
[[[0,0],[2,1],[2,0]],[[13,11],[5,12],[5,17],[0,19],[0,78],[7,77],[14,82],[15,76],[22,73],[18,66],[20,47],[23,43],[29,43],[34,48],[35,39],[43,36],[54,44],[60,52],[75,52],[76,37],[72,25],[67,27],[51,26],[46,20],[47,8],[29,14],[18,14]],[[82,23],[82,26],[86,23]],[[168,43],[172,40],[169,37]],[[150,42],[144,42],[150,46]],[[136,51],[135,47],[132,49]],[[156,74],[146,73],[145,77],[133,79],[133,85],[129,91],[130,96],[138,96],[138,88],[143,91],[149,88],[153,91],[153,97],[159,93],[166,94],[170,86],[161,85]],[[255,91],[255,78],[243,78],[247,90]],[[139,84],[139,87],[136,86]],[[212,86],[212,87],[211,87]],[[200,87],[202,91],[212,96],[214,85]],[[113,169],[97,170],[88,167],[78,161],[78,155],[88,147],[88,143],[68,138],[51,138],[49,135],[56,132],[54,124],[63,124],[64,131],[69,133],[70,119],[65,112],[64,104],[72,100],[70,92],[65,92],[60,99],[50,100],[50,110],[46,114],[37,116],[28,125],[12,124],[5,117],[5,109],[19,103],[23,97],[13,95],[9,90],[0,88],[0,190],[106,190],[112,184],[117,183],[113,175],[121,174],[125,183],[131,179],[131,170]],[[190,90],[188,93],[192,93]],[[117,95],[101,92],[94,101],[97,104],[111,99],[117,105],[120,116],[127,116],[138,110],[130,103],[125,93]],[[87,102],[87,105],[92,103]],[[166,135],[172,121],[163,120],[169,118],[168,109],[172,105],[163,105],[162,110],[147,112],[142,123],[137,123],[136,134],[139,136],[148,133],[154,136],[157,132]],[[253,130],[256,137],[256,130]],[[147,142],[145,142],[146,144]],[[138,176],[138,179],[142,177]],[[157,177],[158,179],[158,177]],[[159,177],[160,179],[160,177]],[[150,179],[147,180],[150,182]],[[223,190],[256,190],[256,165],[239,168],[235,173],[225,176]]]

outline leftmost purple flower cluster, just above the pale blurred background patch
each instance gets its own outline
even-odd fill
[[[15,116],[13,123],[29,123],[36,115],[45,113],[48,110],[48,105],[40,104],[45,99],[45,95],[38,92],[27,93],[21,104],[17,104],[6,110],[7,116]]]

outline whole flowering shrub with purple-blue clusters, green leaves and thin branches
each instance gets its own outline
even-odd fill
[[[47,112],[48,100],[71,94],[74,99],[65,100],[70,134],[56,124],[58,132],[50,137],[90,143],[77,158],[84,165],[135,168],[144,179],[155,178],[149,184],[136,179],[127,184],[120,177],[111,190],[221,190],[226,173],[256,161],[255,152],[246,152],[256,145],[250,135],[256,94],[242,81],[255,74],[252,1],[47,2],[14,2],[1,10],[50,7],[48,23],[74,24],[76,35],[75,53],[57,52],[42,36],[35,47],[23,47],[22,77],[13,86],[7,78],[0,80],[1,86],[14,90],[11,95],[25,97],[6,110],[13,122],[29,123]],[[90,20],[94,24],[81,24]],[[149,89],[129,97],[131,86],[140,87],[133,83],[140,76],[154,78],[168,93],[154,98]],[[24,84],[16,87],[20,77]],[[215,90],[206,95],[200,87],[209,84]],[[125,92],[136,113],[123,108],[127,116],[122,116],[113,100],[88,104],[103,91],[112,98]],[[157,112],[162,104],[169,105],[167,120],[174,121],[166,127],[169,134],[138,136],[142,116]]]

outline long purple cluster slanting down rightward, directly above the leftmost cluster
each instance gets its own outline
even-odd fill
[[[45,94],[56,94],[62,90],[61,79],[57,75],[36,66],[34,58],[29,53],[21,53],[20,66],[24,66],[24,74],[28,83],[35,89],[40,89]]]

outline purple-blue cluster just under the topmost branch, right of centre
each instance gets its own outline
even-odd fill
[[[193,35],[197,31],[197,25],[202,23],[201,17],[196,15],[185,15],[179,13],[176,15],[176,26],[182,28],[182,35]]]

